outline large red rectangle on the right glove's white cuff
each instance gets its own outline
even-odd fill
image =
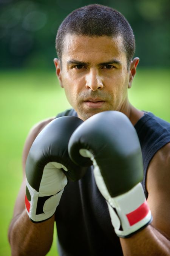
[[[149,212],[149,207],[148,207],[147,201],[145,201],[136,210],[134,210],[133,212],[130,212],[129,214],[126,214],[130,226],[136,224],[137,222],[145,218],[148,212]]]

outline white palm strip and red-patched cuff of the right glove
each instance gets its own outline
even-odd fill
[[[117,236],[129,237],[151,222],[151,212],[145,199],[141,183],[138,183],[128,192],[112,198],[107,190],[93,154],[87,149],[80,149],[80,155],[89,157],[93,162],[96,185],[107,201],[111,223]]]

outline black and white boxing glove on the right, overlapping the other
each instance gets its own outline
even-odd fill
[[[127,116],[117,111],[91,116],[71,135],[68,151],[81,166],[93,163],[96,185],[107,201],[117,236],[129,237],[151,222],[140,183],[141,147]]]

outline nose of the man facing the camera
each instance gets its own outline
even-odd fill
[[[101,90],[104,87],[102,78],[96,69],[92,69],[86,75],[86,88],[92,91]]]

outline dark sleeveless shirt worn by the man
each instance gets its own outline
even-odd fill
[[[70,109],[57,115],[77,116]],[[170,124],[150,112],[134,126],[141,143],[144,179],[148,165],[165,144],[170,142]],[[119,237],[111,225],[107,203],[100,194],[93,176],[93,166],[77,182],[66,185],[56,214],[58,250],[60,256],[121,256]]]

